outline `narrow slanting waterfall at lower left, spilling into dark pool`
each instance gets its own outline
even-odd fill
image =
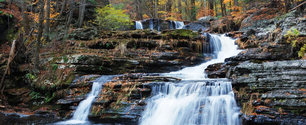
[[[94,101],[95,97],[99,95],[103,83],[106,83],[106,81],[111,77],[113,76],[102,76],[96,80],[93,80],[91,92],[87,95],[86,99],[81,101],[77,106],[73,113],[73,117],[68,121],[58,122],[55,124],[80,124],[88,122],[88,114],[91,110],[91,103]]]

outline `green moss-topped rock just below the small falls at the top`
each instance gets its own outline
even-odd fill
[[[193,32],[189,29],[163,30],[161,34],[172,39],[192,39],[199,36],[199,32]]]

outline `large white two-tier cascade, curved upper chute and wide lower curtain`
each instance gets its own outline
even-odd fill
[[[241,124],[231,82],[226,79],[207,79],[208,65],[224,62],[237,55],[237,45],[230,37],[210,34],[214,42],[215,59],[199,66],[187,67],[164,76],[180,77],[179,82],[155,85],[152,98],[140,117],[141,125],[237,125]]]

